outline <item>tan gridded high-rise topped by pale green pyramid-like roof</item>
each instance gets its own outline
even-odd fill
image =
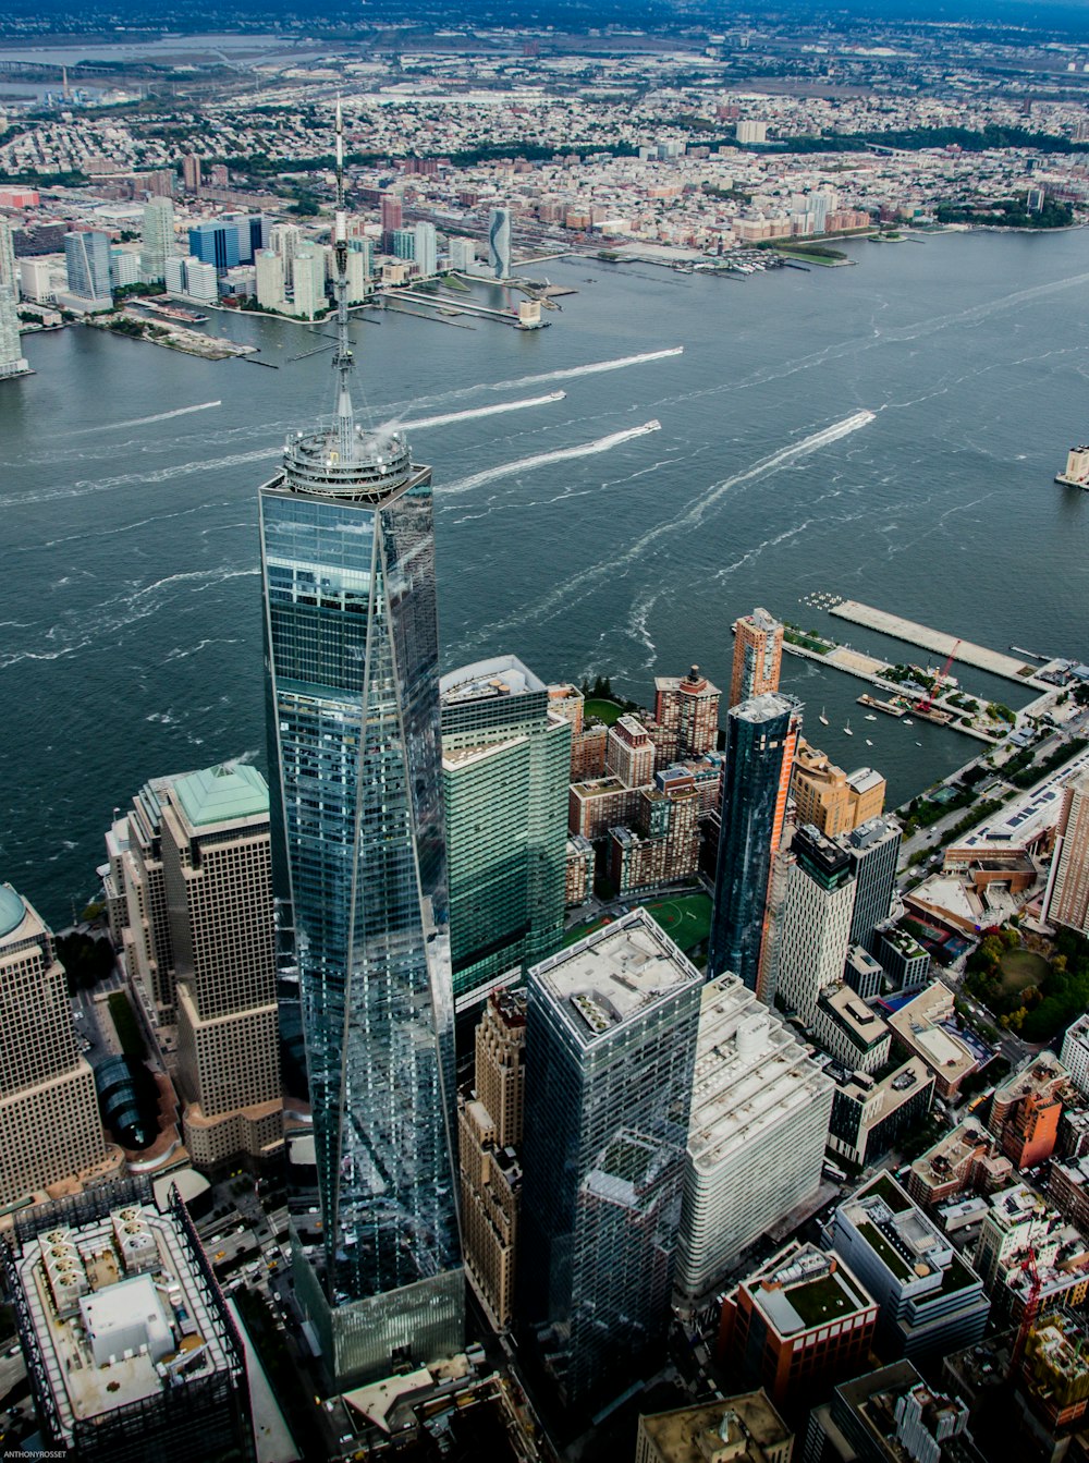
[[[281,1143],[269,789],[253,767],[178,777],[162,809],[183,1131],[197,1167]]]

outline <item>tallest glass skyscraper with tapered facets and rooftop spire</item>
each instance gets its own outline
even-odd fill
[[[339,108],[336,146],[339,177]],[[431,471],[401,433],[354,421],[338,195],[336,414],[288,440],[260,535],[278,894],[322,1216],[320,1246],[297,1238],[297,1287],[344,1384],[459,1350],[463,1277]]]

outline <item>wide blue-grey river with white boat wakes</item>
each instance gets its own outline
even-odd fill
[[[699,661],[728,685],[729,625],[754,604],[925,658],[800,604],[816,593],[1089,657],[1089,496],[1052,483],[1089,433],[1089,233],[851,252],[747,279],[551,260],[534,272],[577,294],[547,331],[352,326],[368,420],[440,418],[411,439],[434,468],[447,667],[513,651],[643,699]],[[330,357],[291,358],[320,326],[208,329],[279,369],[69,329],[26,336],[37,375],[0,383],[0,879],[53,922],[94,892],[111,809],[145,778],[263,765],[256,489],[330,410]],[[892,802],[978,746],[865,723],[865,688],[807,661],[785,686]]]

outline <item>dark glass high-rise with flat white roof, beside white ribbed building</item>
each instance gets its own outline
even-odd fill
[[[529,971],[516,1309],[569,1406],[668,1325],[700,988],[645,910]]]

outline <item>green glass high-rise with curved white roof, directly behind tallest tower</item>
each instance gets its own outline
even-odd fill
[[[459,1009],[557,949],[572,729],[515,655],[441,679],[450,958]]]

